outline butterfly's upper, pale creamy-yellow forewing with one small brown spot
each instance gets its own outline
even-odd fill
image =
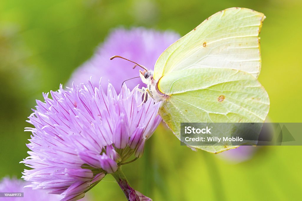
[[[258,35],[264,19],[264,14],[247,8],[212,15],[161,54],[154,67],[155,80],[192,68],[238,69],[257,78],[261,69]]]

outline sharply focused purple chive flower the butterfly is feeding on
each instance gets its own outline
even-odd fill
[[[123,85],[117,94],[109,84],[106,95],[90,80],[68,90],[60,85],[50,95],[43,94],[45,102],[37,101],[29,116],[31,151],[21,162],[32,169],[24,170],[22,178],[32,182],[30,187],[63,195],[62,201],[84,197],[108,173],[119,175],[128,158],[143,155],[145,141],[161,120],[153,99],[138,107],[137,87],[130,91]]]

